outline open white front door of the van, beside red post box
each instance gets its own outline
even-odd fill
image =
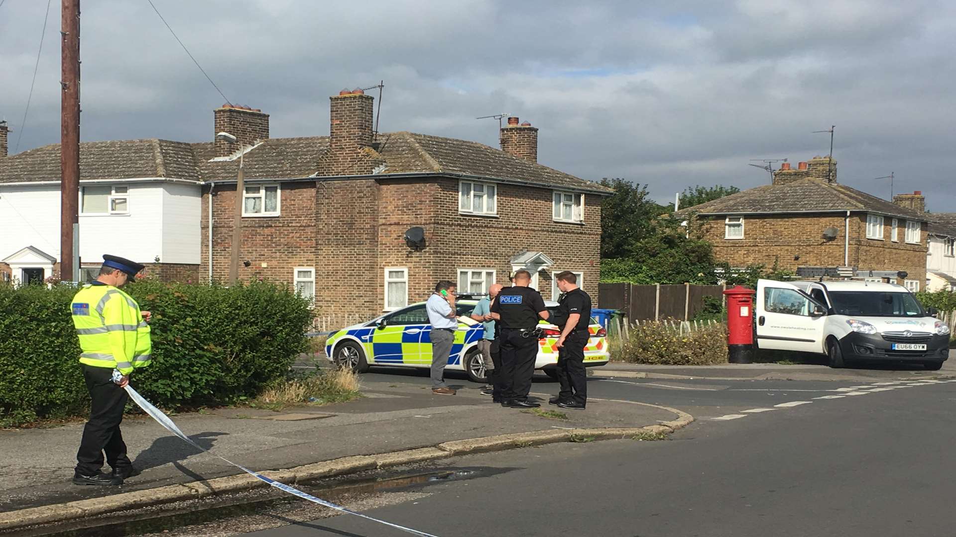
[[[823,352],[826,307],[793,284],[757,280],[757,346],[761,349]]]

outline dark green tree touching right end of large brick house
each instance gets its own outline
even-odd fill
[[[614,194],[601,203],[601,257],[622,257],[650,232],[652,223],[667,209],[648,200],[647,187],[641,184],[607,178],[600,183],[614,188]]]

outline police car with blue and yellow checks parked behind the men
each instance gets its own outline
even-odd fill
[[[478,304],[471,295],[459,295],[455,301],[458,312],[458,330],[455,331],[451,355],[446,370],[467,372],[474,382],[485,382],[485,364],[478,354],[478,341],[484,334],[481,322],[469,316]],[[431,366],[431,325],[424,309],[424,302],[412,304],[401,310],[389,311],[371,321],[331,333],[326,341],[325,355],[339,367],[349,367],[357,373],[365,373],[371,366],[398,366],[427,369]],[[557,303],[546,300],[549,311]],[[584,348],[584,365],[601,366],[608,362],[607,337],[604,329],[592,317],[587,347]],[[548,376],[556,376],[557,349],[554,347],[560,332],[547,321],[540,322],[544,337],[538,340],[537,360],[534,369],[543,370]]]

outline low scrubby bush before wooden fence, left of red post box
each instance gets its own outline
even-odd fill
[[[664,322],[642,322],[631,328],[628,335],[616,357],[625,362],[710,365],[728,360],[727,327],[723,324],[681,333]]]

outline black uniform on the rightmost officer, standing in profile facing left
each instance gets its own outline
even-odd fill
[[[591,333],[591,296],[581,289],[569,290],[558,299],[558,317],[561,319],[561,332],[564,332],[568,316],[580,314],[575,330],[564,339],[564,345],[557,351],[557,381],[561,391],[557,397],[561,401],[575,401],[584,405],[588,398],[587,374],[584,371],[584,347]]]

